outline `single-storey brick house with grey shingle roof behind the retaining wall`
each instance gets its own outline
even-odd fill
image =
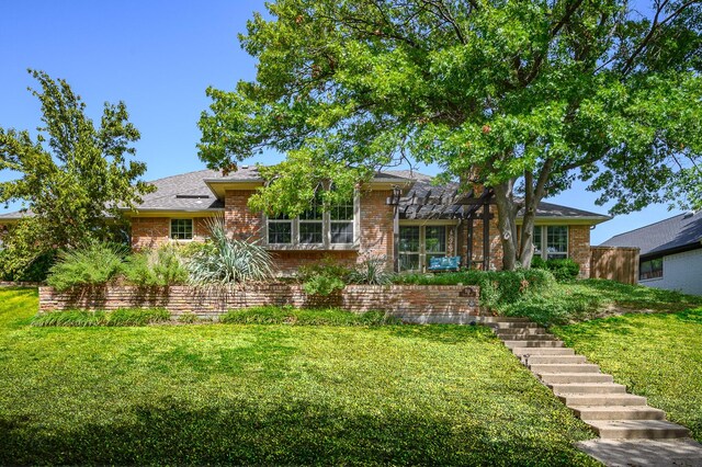
[[[325,258],[348,265],[385,258],[388,267],[401,271],[424,271],[432,257],[461,257],[462,265],[501,267],[496,206],[488,193],[460,194],[457,184],[433,185],[430,176],[417,172],[380,172],[353,200],[326,212],[313,205],[294,219],[249,209],[249,196],[263,185],[256,167],[241,167],[227,176],[201,170],[152,184],[157,191],[144,196],[137,213],[129,213],[135,249],[203,240],[206,218],[218,215],[233,236],[258,239],[270,250],[283,274]],[[534,235],[537,254],[573,258],[587,277],[590,229],[608,219],[541,203]]]

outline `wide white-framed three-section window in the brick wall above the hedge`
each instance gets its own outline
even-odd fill
[[[317,197],[309,209],[299,217],[270,216],[268,218],[268,243],[272,246],[329,246],[353,244],[354,201],[329,206],[325,210]]]

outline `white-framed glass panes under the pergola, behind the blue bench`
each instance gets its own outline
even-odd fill
[[[422,271],[434,257],[446,255],[446,226],[400,226],[400,271]]]

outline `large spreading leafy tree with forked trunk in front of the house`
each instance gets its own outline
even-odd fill
[[[700,1],[641,8],[278,0],[240,37],[256,81],[207,90],[200,156],[229,170],[285,152],[252,204],[293,214],[325,179],[348,190],[398,160],[438,163],[494,190],[503,266],[528,267],[536,205],[577,178],[613,214],[700,204]]]

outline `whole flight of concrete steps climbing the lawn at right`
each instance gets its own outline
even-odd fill
[[[526,318],[478,317],[512,353],[573,412],[603,440],[675,440],[687,428],[666,421],[646,398],[626,392],[611,375],[576,355],[544,328]]]

